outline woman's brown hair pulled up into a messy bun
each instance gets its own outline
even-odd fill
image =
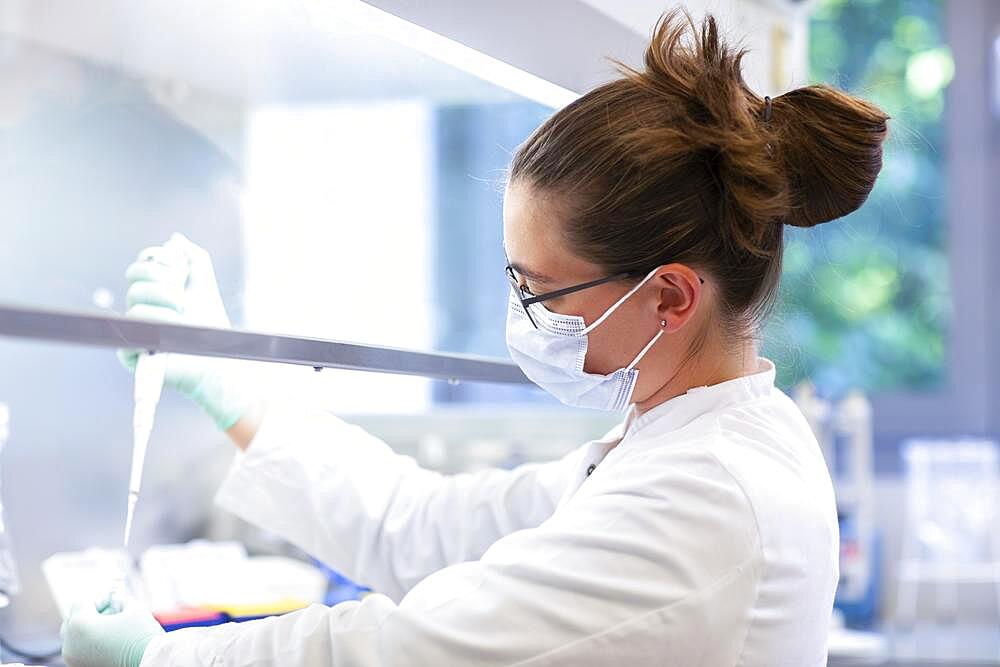
[[[888,116],[826,85],[770,104],[743,80],[707,16],[664,14],[645,68],[559,110],[522,144],[509,179],[556,194],[563,235],[609,275],[680,262],[718,286],[722,322],[751,334],[773,304],[783,224],[812,227],[864,203]]]

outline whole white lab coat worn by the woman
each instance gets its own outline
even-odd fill
[[[142,667],[824,665],[832,485],[758,363],[512,471],[442,476],[269,414],[218,502],[378,593],[173,632]]]

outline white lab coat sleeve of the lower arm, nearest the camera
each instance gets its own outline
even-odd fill
[[[733,665],[761,576],[754,515],[710,457],[600,468],[537,528],[380,594],[154,639],[141,667]],[[414,549],[421,545],[414,544]]]

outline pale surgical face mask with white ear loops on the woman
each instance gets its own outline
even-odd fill
[[[655,273],[654,270],[643,278],[590,326],[579,315],[560,315],[541,303],[533,303],[528,307],[532,309],[531,316],[538,323],[536,329],[511,290],[507,310],[507,348],[511,358],[528,379],[566,405],[598,410],[624,410],[631,403],[632,392],[639,378],[639,370],[635,365],[660,339],[663,329],[642,348],[632,363],[608,375],[583,370],[583,362],[587,356],[587,334],[610,317],[618,306],[635,294]]]

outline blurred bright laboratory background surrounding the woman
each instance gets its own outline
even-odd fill
[[[122,313],[125,267],[180,231],[240,328],[506,358],[512,152],[613,76],[605,56],[638,63],[668,5],[471,4],[0,3],[0,302]],[[838,488],[831,664],[1000,664],[1000,3],[684,4],[742,40],[759,94],[827,82],[893,118],[868,203],[786,232],[762,338]],[[259,373],[444,471],[553,458],[616,421],[525,385]],[[11,646],[57,646],[46,558],[120,545],[131,392],[113,351],[0,338]],[[213,508],[231,449],[164,396],[134,554],[307,558]]]

